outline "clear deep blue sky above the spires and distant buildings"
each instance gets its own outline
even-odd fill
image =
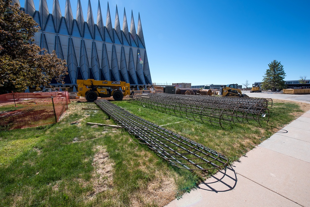
[[[70,2],[75,18],[77,0]],[[39,0],[34,3],[38,10]],[[53,1],[47,3],[51,13]],[[86,20],[88,1],[81,3]],[[100,0],[104,19],[107,4]],[[136,28],[140,12],[153,82],[252,84],[274,59],[285,80],[310,79],[309,0],[111,0],[113,27],[116,5],[121,29],[124,7],[128,25],[133,10]],[[91,6],[96,22],[98,0]],[[60,8],[64,16],[65,0]]]

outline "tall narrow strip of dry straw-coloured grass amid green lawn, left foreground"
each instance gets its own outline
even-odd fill
[[[93,198],[98,193],[104,192],[113,187],[113,165],[109,155],[103,146],[95,148],[98,152],[95,154],[92,165],[95,167],[91,179],[93,191],[88,195]]]

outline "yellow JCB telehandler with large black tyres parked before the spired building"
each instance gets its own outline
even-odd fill
[[[124,96],[130,95],[130,84],[124,81],[95,81],[94,79],[77,80],[78,96],[83,96],[89,102],[113,96],[121,101]],[[120,90],[121,88],[121,90]]]

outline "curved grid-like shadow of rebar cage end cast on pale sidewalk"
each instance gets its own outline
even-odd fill
[[[197,188],[218,193],[230,191],[234,189],[236,185],[237,174],[235,170],[233,170],[232,167],[226,167],[224,170],[219,171],[202,182]]]

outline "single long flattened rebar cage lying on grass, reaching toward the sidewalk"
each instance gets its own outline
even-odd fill
[[[224,167],[228,163],[223,154],[137,117],[107,100],[96,100],[95,103],[119,126],[133,134],[134,139],[146,144],[171,165],[187,170],[206,171]]]

